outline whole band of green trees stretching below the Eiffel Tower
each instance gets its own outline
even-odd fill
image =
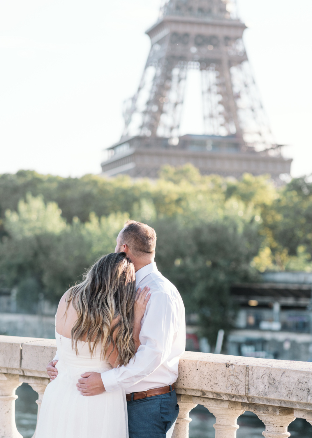
[[[215,341],[235,309],[230,285],[270,270],[312,271],[312,184],[276,187],[268,176],[202,176],[164,166],[158,180],[61,178],[21,170],[0,175],[0,286],[17,289],[20,309],[52,302],[114,251],[128,218],[157,233],[159,270],[199,312]],[[41,295],[42,296],[42,295]]]

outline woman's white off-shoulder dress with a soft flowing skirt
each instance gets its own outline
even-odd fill
[[[45,389],[36,438],[128,438],[124,389],[86,397],[76,387],[80,374],[112,368],[101,360],[100,348],[91,358],[88,344],[78,342],[76,356],[71,339],[56,332],[55,338],[59,374]]]

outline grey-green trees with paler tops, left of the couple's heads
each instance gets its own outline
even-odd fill
[[[17,287],[20,307],[30,311],[39,293],[58,302],[97,258],[113,252],[128,216],[111,213],[98,219],[90,213],[88,222],[74,217],[66,225],[55,203],[45,206],[40,195],[31,194],[27,201],[18,203],[17,212],[6,212],[10,237],[3,237],[0,245],[0,272],[2,284]]]

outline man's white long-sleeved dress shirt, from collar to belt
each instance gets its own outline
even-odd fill
[[[107,392],[124,388],[128,394],[171,385],[185,350],[184,304],[176,287],[155,262],[139,269],[135,277],[137,287],[148,285],[151,292],[141,321],[141,345],[127,365],[101,374]]]

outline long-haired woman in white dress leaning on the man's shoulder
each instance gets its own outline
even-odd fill
[[[121,252],[102,257],[63,295],[55,321],[58,375],[45,390],[36,438],[128,438],[125,391],[83,397],[76,383],[87,371],[134,357],[148,291],[136,293],[134,266]]]

